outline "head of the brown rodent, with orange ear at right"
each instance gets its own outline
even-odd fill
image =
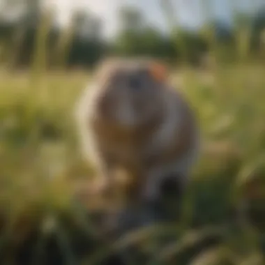
[[[153,61],[105,61],[96,73],[97,113],[119,126],[134,128],[162,112],[165,68]],[[154,118],[156,119],[156,118]]]

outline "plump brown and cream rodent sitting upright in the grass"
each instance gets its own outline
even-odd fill
[[[76,117],[84,156],[106,185],[121,168],[138,198],[158,198],[167,176],[185,188],[197,160],[199,130],[188,103],[167,84],[162,64],[103,61],[77,103]]]

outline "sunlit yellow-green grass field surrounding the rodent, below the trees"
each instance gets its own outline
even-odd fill
[[[0,73],[0,263],[96,264],[107,251],[100,250],[103,243],[89,241],[95,229],[73,198],[75,184],[84,188],[92,176],[80,157],[73,122],[89,73],[37,77]],[[264,264],[265,66],[217,64],[207,73],[181,68],[172,77],[181,80],[195,109],[203,150],[183,221],[169,229],[174,243],[156,249],[142,239],[143,250],[156,252],[147,264],[176,264],[172,257],[179,265]],[[239,222],[232,221],[234,209]],[[203,248],[207,235],[217,239]],[[44,250],[54,250],[50,259]],[[82,262],[79,252],[86,254]]]

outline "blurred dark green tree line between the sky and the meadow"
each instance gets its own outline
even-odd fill
[[[59,27],[54,13],[43,15],[38,1],[27,0],[26,7],[13,20],[0,14],[1,63],[27,67],[37,58],[50,68],[90,68],[103,56],[117,54],[196,64],[209,50],[218,50],[222,59],[232,59],[243,47],[261,58],[265,47],[265,9],[251,17],[239,14],[233,24],[209,21],[197,31],[173,25],[166,34],[151,27],[139,10],[124,7],[120,12],[123,27],[114,40],[107,41],[103,21],[88,11],[77,10],[68,27]]]

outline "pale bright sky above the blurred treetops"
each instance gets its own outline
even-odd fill
[[[48,1],[48,0],[47,0]],[[146,16],[146,19],[162,30],[167,29],[165,17],[159,7],[160,0],[49,0],[58,10],[59,21],[66,24],[73,8],[88,8],[105,20],[105,36],[113,36],[119,30],[118,12],[123,4],[136,6]],[[202,1],[207,0],[172,0],[174,13],[179,23],[187,27],[197,27],[205,19],[205,10],[202,9]],[[231,18],[229,4],[235,0],[208,0],[211,2],[211,15],[227,20]],[[249,10],[253,6],[259,6],[262,0],[238,0],[238,6],[242,10]]]

